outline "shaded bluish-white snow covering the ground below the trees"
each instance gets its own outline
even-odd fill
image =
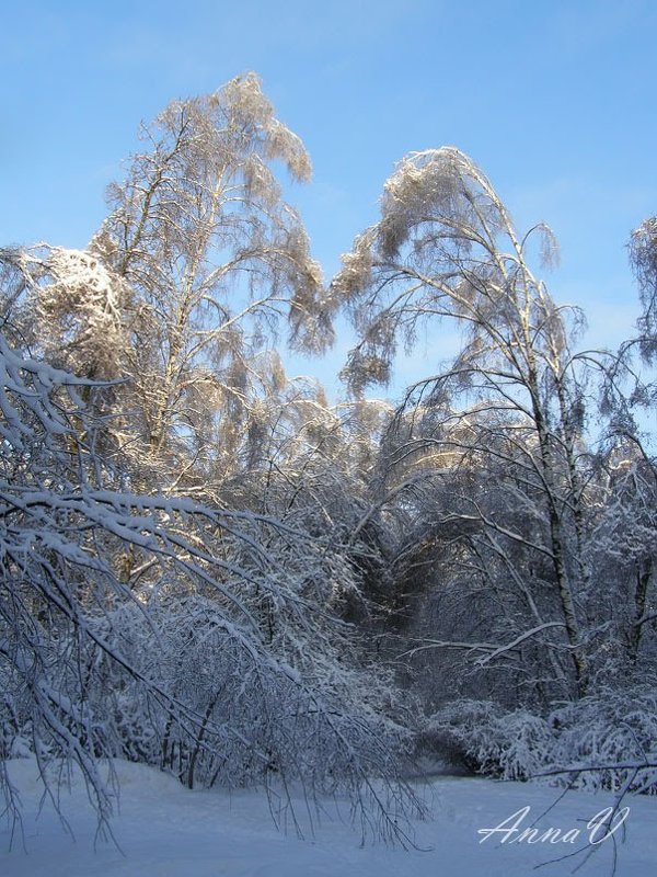
[[[481,843],[484,835],[479,834],[480,829],[498,827],[526,806],[531,810],[521,828],[528,828],[557,797],[545,786],[436,778],[423,788],[423,795],[434,801],[434,816],[416,823],[416,840],[426,852],[404,852],[384,845],[361,847],[358,833],[328,817],[314,840],[286,836],[274,828],[266,799],[257,793],[188,791],[154,770],[119,762],[120,813],[114,820],[114,832],[120,850],[111,842],[99,842],[94,850],[95,821],[83,786],[74,785],[70,795],[62,796],[76,834],[73,841],[62,831],[49,804],[37,815],[43,787],[34,763],[14,761],[10,771],[24,805],[26,851],[20,838],[11,845],[3,824],[2,877],[517,877],[570,874],[583,861],[577,856],[534,872],[535,865],[583,844],[499,843],[500,833]],[[554,827],[562,832],[580,829],[578,840],[583,841],[589,834],[587,822],[609,802],[604,796],[569,793],[540,824],[543,830]],[[657,800],[633,798],[629,805],[624,842],[619,829],[597,846],[578,875],[611,874],[616,838],[618,877],[657,874]],[[298,810],[303,811],[301,802]],[[509,841],[516,836],[509,836]]]

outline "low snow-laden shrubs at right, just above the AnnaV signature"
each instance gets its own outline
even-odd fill
[[[545,716],[456,701],[430,717],[427,731],[445,734],[483,774],[657,794],[655,684],[601,690]]]

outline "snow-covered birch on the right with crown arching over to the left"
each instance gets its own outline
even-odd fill
[[[537,240],[550,261],[550,230],[539,225],[520,236],[491,182],[458,149],[412,153],[385,183],[380,220],[343,257],[331,289],[360,334],[344,372],[356,392],[389,377],[397,345],[420,327],[447,321],[462,333],[456,360],[415,384],[397,413],[387,451],[391,482],[415,469],[445,485],[438,505],[417,506],[420,542],[449,546],[438,572],[443,588],[459,571],[487,600],[495,588],[514,594],[506,606],[499,594],[493,642],[480,660],[502,660],[505,638],[514,641],[507,659],[522,642],[553,694],[577,696],[588,675],[587,360],[570,348],[572,311],[530,267]]]

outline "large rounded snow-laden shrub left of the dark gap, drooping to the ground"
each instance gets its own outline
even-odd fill
[[[368,782],[381,765],[392,767],[402,733],[382,717],[370,675],[337,662],[332,673],[318,673],[312,643],[306,668],[263,653],[198,596],[151,610],[150,638],[138,611],[124,607],[122,616],[108,623],[120,631],[124,652],[145,675],[157,656],[158,684],[184,707],[174,713],[151,698],[146,708],[139,684],[114,681],[115,736],[124,754],[136,752],[189,786],[285,777],[313,793],[348,793],[355,778]]]

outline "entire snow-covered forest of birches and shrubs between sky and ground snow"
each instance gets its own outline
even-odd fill
[[[620,242],[635,334],[591,350],[550,228],[458,148],[400,156],[325,277],[255,73],[140,143],[87,249],[0,249],[10,819],[26,756],[55,800],[81,772],[101,828],[123,760],[288,827],[292,789],[343,796],[401,845],[433,759],[657,793],[657,217]],[[339,320],[334,403],[285,360]],[[456,355],[389,394],[438,331]]]

